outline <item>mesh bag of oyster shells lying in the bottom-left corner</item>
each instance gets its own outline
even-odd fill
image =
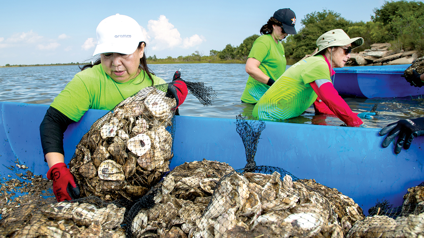
[[[44,205],[26,203],[0,220],[0,237],[114,237],[125,238],[121,228],[125,208],[97,197]]]

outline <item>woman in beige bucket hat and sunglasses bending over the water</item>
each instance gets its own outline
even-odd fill
[[[333,68],[341,68],[352,49],[361,46],[363,38],[350,39],[341,29],[330,30],[317,40],[318,52],[293,64],[262,96],[253,116],[264,120],[284,120],[300,116],[310,105],[315,113],[338,116],[346,125],[363,125],[360,118],[375,113],[354,113],[332,84]],[[334,77],[333,77],[334,79]]]

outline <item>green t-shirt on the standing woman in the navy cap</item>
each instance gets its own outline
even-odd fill
[[[286,70],[287,63],[283,44],[281,42],[276,44],[271,34],[259,36],[255,40],[248,58],[255,58],[260,61],[259,69],[273,80],[279,78]],[[268,89],[268,85],[255,80],[249,75],[241,100],[243,102],[257,103]]]

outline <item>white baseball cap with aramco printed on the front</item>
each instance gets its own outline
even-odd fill
[[[97,45],[93,56],[101,53],[130,55],[139,42],[145,42],[140,25],[131,17],[116,14],[106,17],[96,29]]]

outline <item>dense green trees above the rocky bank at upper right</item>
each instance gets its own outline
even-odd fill
[[[283,42],[287,64],[293,64],[312,54],[316,39],[332,29],[343,29],[351,38],[362,37],[364,44],[354,52],[369,49],[371,44],[389,42],[395,53],[418,50],[424,54],[424,4],[416,1],[385,1],[374,8],[369,22],[352,22],[331,10],[315,11],[301,20],[303,27],[297,35],[289,35]]]

